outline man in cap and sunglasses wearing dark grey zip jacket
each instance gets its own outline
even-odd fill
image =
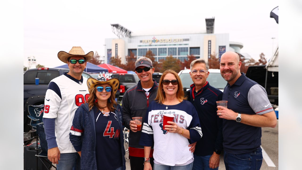
[[[129,134],[129,159],[131,170],[143,170],[143,163],[151,163],[153,167],[153,147],[150,157],[144,158],[144,146],[139,145],[141,131],[137,131],[132,117],[143,117],[144,121],[149,103],[156,97],[158,83],[152,79],[154,68],[152,61],[147,57],[140,57],[135,62],[135,73],[140,81],[130,87],[122,100],[124,126],[130,129]]]

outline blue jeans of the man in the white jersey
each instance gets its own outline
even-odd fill
[[[57,170],[80,170],[81,157],[78,152],[61,153],[59,164],[56,164]]]

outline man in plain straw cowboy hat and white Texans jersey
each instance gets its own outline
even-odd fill
[[[46,91],[43,122],[48,159],[57,164],[58,170],[80,168],[80,157],[69,141],[69,130],[76,109],[89,97],[87,78],[82,73],[93,54],[85,54],[81,47],[72,47],[68,53],[60,51],[58,58],[68,64],[69,72],[51,80]]]

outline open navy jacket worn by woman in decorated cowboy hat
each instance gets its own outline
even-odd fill
[[[126,169],[124,135],[122,130],[122,108],[120,105],[114,106],[115,114],[120,124],[120,145],[123,160],[123,170]],[[96,165],[96,136],[95,136],[95,117],[93,109],[88,111],[88,103],[82,104],[75,113],[72,121],[72,130],[81,132],[81,136],[72,135],[69,133],[69,139],[77,152],[81,153],[81,170],[97,170]],[[101,144],[98,144],[101,145]],[[104,146],[106,147],[106,146]],[[104,153],[105,154],[105,153]],[[106,153],[114,154],[114,153]]]

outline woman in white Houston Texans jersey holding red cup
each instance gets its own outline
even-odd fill
[[[170,114],[171,125],[163,127],[163,115]],[[151,170],[148,155],[154,142],[154,170],[186,169],[193,167],[193,151],[190,144],[202,137],[197,111],[185,100],[182,82],[173,70],[166,70],[160,80],[155,100],[149,105],[140,145],[144,146],[144,169]]]

